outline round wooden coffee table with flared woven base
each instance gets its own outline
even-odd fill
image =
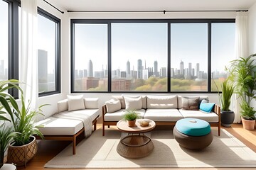
[[[126,158],[141,158],[149,155],[154,145],[150,137],[144,135],[144,132],[150,132],[156,127],[156,123],[150,120],[149,126],[142,127],[139,125],[139,120],[136,121],[134,127],[129,127],[127,122],[120,120],[117,123],[117,128],[121,132],[127,132],[128,135],[122,137],[117,145],[117,153]]]

